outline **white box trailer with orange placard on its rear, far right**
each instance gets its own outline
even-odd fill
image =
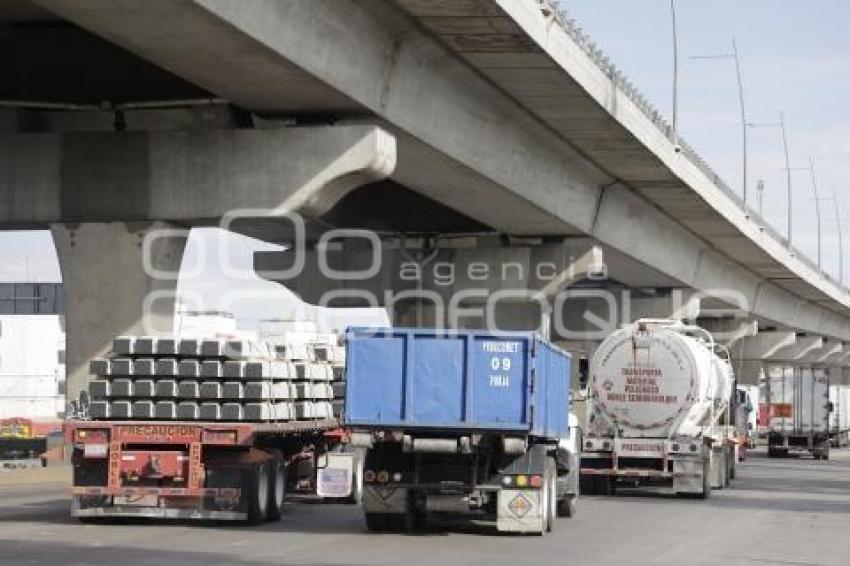
[[[825,369],[770,366],[767,369],[767,453],[809,452],[829,459],[829,375]]]

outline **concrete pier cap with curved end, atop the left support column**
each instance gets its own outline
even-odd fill
[[[374,126],[0,135],[0,228],[327,212],[390,175]]]

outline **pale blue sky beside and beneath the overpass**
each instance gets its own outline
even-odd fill
[[[562,0],[579,25],[667,118],[672,111],[670,0]],[[820,203],[822,262],[838,277],[838,223],[850,225],[850,2],[846,0],[676,0],[679,36],[679,132],[736,191],[741,191],[741,123],[734,64],[693,56],[726,54],[732,38],[742,65],[748,121],[772,123],[785,114],[792,169],[793,243],[817,257]],[[763,216],[786,233],[787,196],[780,130],[749,129],[750,204],[758,209],[756,185],[764,180]],[[812,159],[822,200],[814,199],[807,167]],[[827,199],[837,195],[835,201]],[[850,236],[850,232],[845,231]],[[846,242],[850,251],[850,240]],[[203,308],[222,308],[233,289],[217,267],[226,246],[234,265],[248,270],[252,252],[268,249],[236,235],[193,231],[185,262],[200,262],[201,274],[181,281],[181,290],[204,297]],[[0,281],[60,280],[47,232],[0,232]],[[850,263],[850,262],[847,262]],[[845,266],[850,274],[850,265]],[[850,282],[850,278],[847,279]],[[237,301],[231,310],[246,321],[292,313],[292,295],[260,280],[239,285],[262,294]],[[315,313],[314,313],[315,314]],[[317,316],[327,316],[319,313]]]

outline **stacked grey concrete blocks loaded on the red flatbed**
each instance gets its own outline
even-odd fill
[[[345,349],[334,335],[283,341],[119,336],[91,361],[91,417],[289,421],[340,416]]]

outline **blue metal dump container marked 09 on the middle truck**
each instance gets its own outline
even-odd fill
[[[346,336],[349,426],[568,436],[570,355],[533,333],[352,328]]]

